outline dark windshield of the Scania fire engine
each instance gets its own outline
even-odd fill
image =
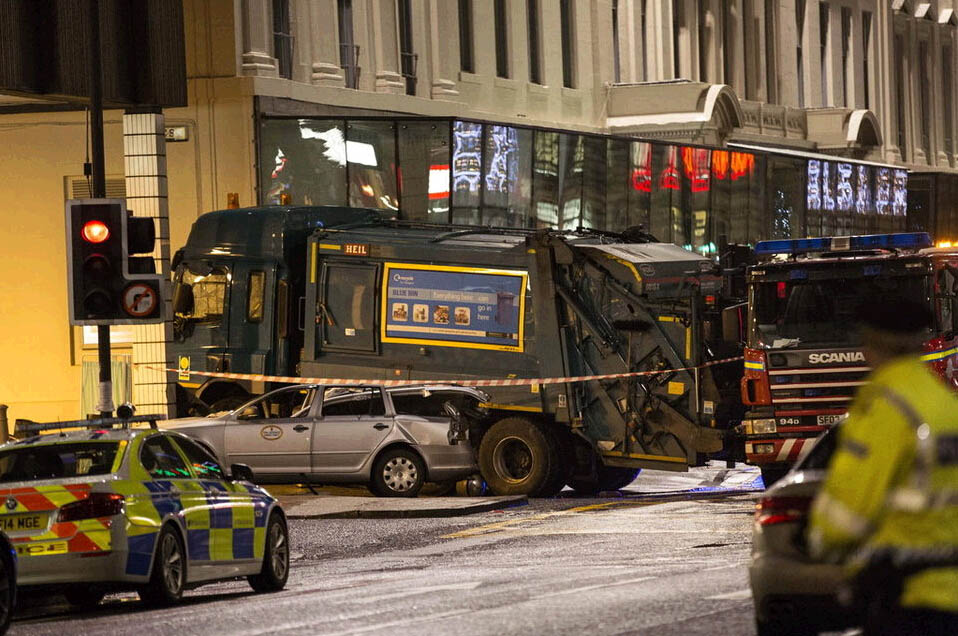
[[[749,295],[749,346],[765,349],[856,346],[855,311],[865,300],[927,302],[922,276],[758,282]]]

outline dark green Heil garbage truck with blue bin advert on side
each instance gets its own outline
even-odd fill
[[[239,250],[193,247],[177,263],[174,293],[193,304],[174,309],[201,313],[196,286],[208,279],[188,272],[233,272],[216,297],[230,317],[228,362],[207,354],[206,370],[253,373],[184,373],[194,404],[261,393],[270,373],[485,382],[489,400],[469,413],[470,441],[496,494],[617,489],[641,468],[687,470],[723,448],[728,423],[716,419],[718,361],[707,346],[720,329],[706,318],[721,270],[678,246],[635,232],[367,217],[316,228],[298,273],[292,261],[273,272],[247,266]],[[176,343],[185,369],[196,369],[189,345],[198,329]]]

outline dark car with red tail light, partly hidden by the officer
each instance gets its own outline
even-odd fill
[[[825,479],[838,429],[823,433],[755,507],[749,578],[759,636],[818,634],[860,624],[856,612],[838,602],[841,568],[814,561],[805,545],[812,499]]]

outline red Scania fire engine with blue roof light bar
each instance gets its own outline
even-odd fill
[[[742,400],[747,461],[766,486],[842,419],[871,370],[854,313],[905,296],[935,315],[922,360],[958,389],[958,248],[924,232],[761,241],[748,269]]]

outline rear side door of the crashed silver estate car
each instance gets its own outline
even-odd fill
[[[379,387],[323,387],[313,432],[313,472],[358,472],[394,426],[395,416],[391,410],[387,414]]]

